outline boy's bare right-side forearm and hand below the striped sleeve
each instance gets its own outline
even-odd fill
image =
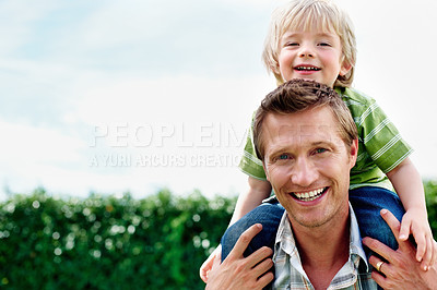
[[[412,233],[417,243],[417,261],[422,261],[424,257],[425,264],[423,264],[423,267],[429,266],[433,261],[436,261],[437,253],[433,253],[435,252],[435,243],[428,223],[421,176],[411,159],[406,158],[388,172],[387,177],[393,184],[406,212],[402,218],[399,238],[405,241]]]

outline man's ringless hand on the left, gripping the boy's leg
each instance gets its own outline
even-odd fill
[[[208,273],[205,289],[262,289],[273,280],[273,273],[267,273],[273,262],[269,256],[272,250],[263,246],[248,257],[243,253],[249,242],[262,229],[257,223],[247,229],[238,239],[229,255],[220,264],[215,256],[212,269]]]

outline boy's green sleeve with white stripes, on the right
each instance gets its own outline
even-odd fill
[[[359,118],[358,132],[366,152],[383,173],[390,172],[413,149],[374,99]]]

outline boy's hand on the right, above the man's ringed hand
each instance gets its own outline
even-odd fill
[[[437,261],[437,243],[433,239],[426,212],[422,208],[410,208],[402,218],[399,239],[406,241],[410,233],[417,244],[416,259],[422,262],[422,269],[427,270]]]

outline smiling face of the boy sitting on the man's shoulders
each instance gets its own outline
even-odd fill
[[[342,61],[342,46],[335,33],[288,31],[279,49],[279,71],[285,82],[307,78],[333,87],[336,77],[352,68]]]

